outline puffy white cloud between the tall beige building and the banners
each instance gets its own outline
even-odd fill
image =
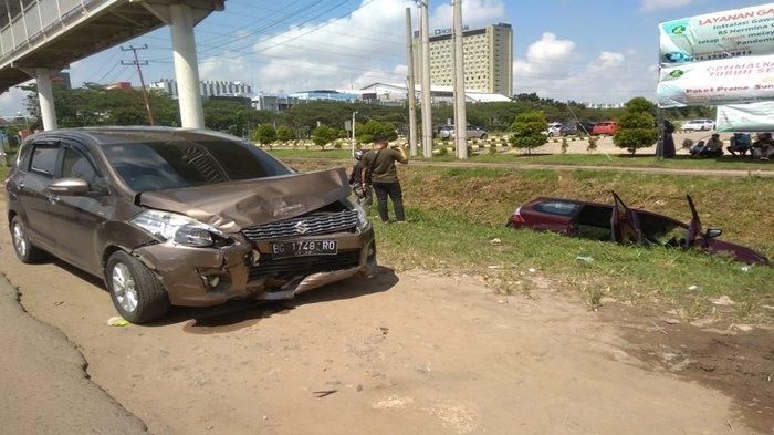
[[[514,92],[587,103],[653,96],[656,74],[650,65],[634,64],[632,58],[609,50],[599,52],[590,62],[582,61],[576,46],[572,40],[543,33],[527,48],[524,59],[513,62]]]

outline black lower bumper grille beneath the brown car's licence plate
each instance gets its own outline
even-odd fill
[[[312,273],[356,268],[359,265],[359,250],[339,252],[335,256],[293,257],[278,260],[272,259],[270,256],[261,256],[259,265],[250,268],[249,281],[252,282],[265,278],[289,280]]]

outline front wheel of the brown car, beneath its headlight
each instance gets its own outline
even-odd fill
[[[169,310],[169,296],[161,280],[127,252],[116,251],[107,260],[105,283],[116,311],[132,323],[160,319]]]

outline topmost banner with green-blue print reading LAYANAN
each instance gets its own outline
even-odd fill
[[[774,54],[774,3],[659,24],[662,66]]]

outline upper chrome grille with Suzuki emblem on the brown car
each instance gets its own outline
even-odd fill
[[[289,237],[315,236],[331,232],[349,231],[357,228],[357,211],[315,213],[279,222],[258,225],[242,230],[253,241],[276,240]],[[303,222],[303,224],[302,224]]]

